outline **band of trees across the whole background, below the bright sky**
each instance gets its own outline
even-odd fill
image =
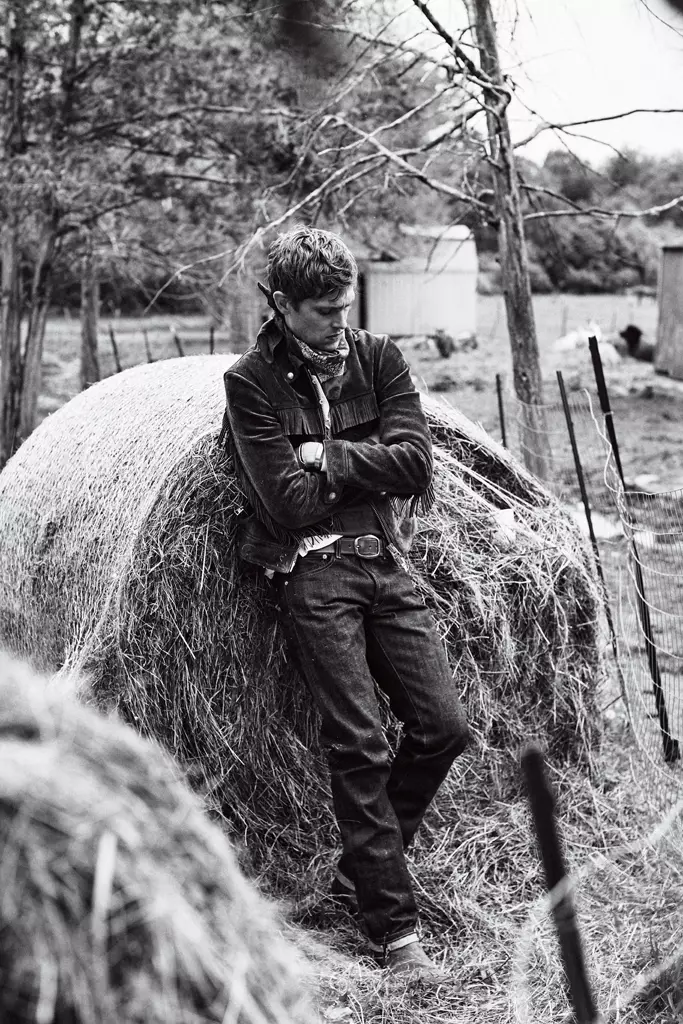
[[[33,427],[50,308],[220,318],[295,219],[378,254],[404,251],[400,223],[465,222],[493,263],[514,183],[537,290],[653,284],[683,158],[513,167],[488,0],[470,48],[413,3],[440,48],[392,0],[5,0],[0,465]]]

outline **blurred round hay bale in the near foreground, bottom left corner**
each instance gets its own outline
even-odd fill
[[[170,759],[6,655],[0,865],[3,1024],[312,1020],[302,961]]]

